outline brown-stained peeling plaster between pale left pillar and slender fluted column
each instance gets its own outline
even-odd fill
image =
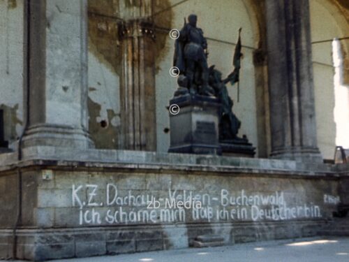
[[[89,133],[96,148],[120,148],[119,1],[89,1]]]

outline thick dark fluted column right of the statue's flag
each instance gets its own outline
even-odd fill
[[[309,0],[268,0],[266,13],[272,157],[321,161]]]

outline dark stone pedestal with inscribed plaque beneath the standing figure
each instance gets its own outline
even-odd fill
[[[218,99],[184,95],[170,100],[170,149],[188,154],[221,154],[218,140]]]

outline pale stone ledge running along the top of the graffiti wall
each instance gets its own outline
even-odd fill
[[[30,163],[30,161],[32,161]],[[349,165],[302,163],[290,160],[218,157],[195,154],[167,154],[128,150],[74,150],[62,147],[28,147],[23,161],[17,153],[0,154],[0,170],[33,164],[52,166],[86,166],[100,168],[144,168],[202,170],[232,173],[298,173],[301,175],[349,175]]]

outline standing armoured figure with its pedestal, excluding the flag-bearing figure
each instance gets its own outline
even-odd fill
[[[168,152],[221,154],[220,103],[209,86],[207,41],[197,21],[196,15],[189,15],[175,42],[173,65],[179,71],[179,88],[170,101]]]

